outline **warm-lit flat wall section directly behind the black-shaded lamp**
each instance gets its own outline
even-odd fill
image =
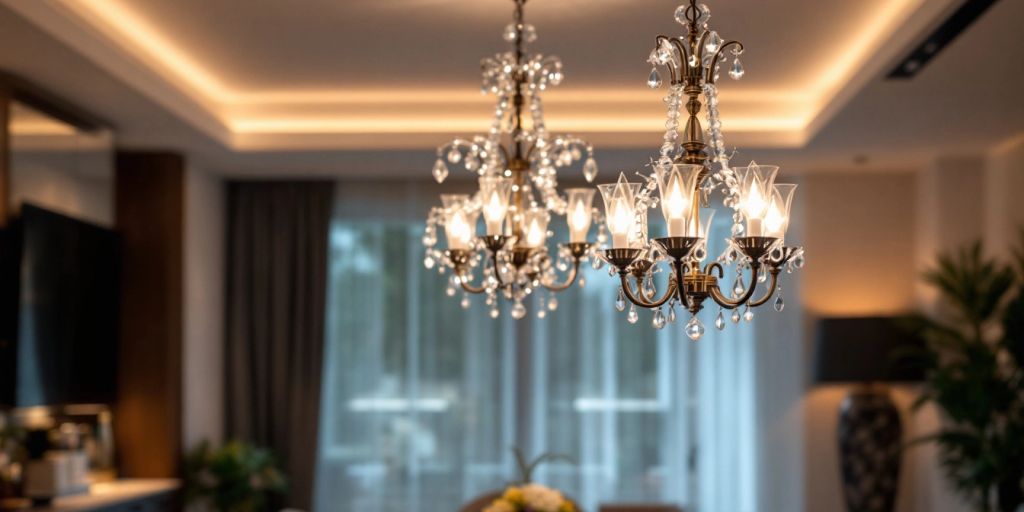
[[[809,254],[801,296],[808,313],[803,349],[809,370],[817,317],[895,314],[913,307],[918,176],[912,171],[836,172],[810,174],[803,183]],[[804,510],[844,510],[836,430],[847,389],[806,385]],[[904,418],[904,423],[914,435],[912,421]],[[907,459],[906,466],[916,462]],[[906,473],[904,485],[914,480],[911,471]],[[915,509],[903,505],[899,510]]]

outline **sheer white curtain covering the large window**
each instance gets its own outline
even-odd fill
[[[457,510],[515,476],[511,446],[570,456],[536,476],[586,510],[761,510],[758,319],[719,333],[710,307],[698,343],[682,310],[664,331],[646,311],[630,325],[617,278],[589,264],[543,319],[539,303],[520,322],[490,319],[480,298],[464,311],[423,266],[423,188],[339,186],[316,510]]]

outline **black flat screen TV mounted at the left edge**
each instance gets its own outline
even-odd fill
[[[25,205],[0,242],[0,407],[112,403],[117,234]]]

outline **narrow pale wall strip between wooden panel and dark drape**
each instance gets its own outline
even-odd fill
[[[189,168],[185,176],[183,445],[223,437],[223,181]]]

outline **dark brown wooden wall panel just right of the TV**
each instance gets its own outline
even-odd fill
[[[184,179],[180,155],[117,155],[124,269],[114,420],[125,477],[180,473]]]

